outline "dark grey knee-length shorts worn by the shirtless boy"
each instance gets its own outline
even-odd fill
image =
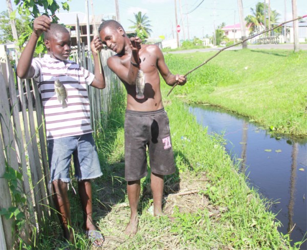
[[[175,172],[169,120],[164,108],[143,112],[126,110],[125,180],[136,181],[147,175],[146,145],[151,172]]]

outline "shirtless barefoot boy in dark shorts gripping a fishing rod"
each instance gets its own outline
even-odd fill
[[[138,37],[129,39],[121,24],[115,20],[102,22],[99,36],[102,43],[117,53],[108,58],[107,65],[117,74],[127,91],[125,180],[131,214],[125,233],[135,235],[138,230],[140,180],[147,175],[146,146],[149,151],[150,187],[155,216],[163,215],[163,178],[176,170],[169,121],[162,104],[159,72],[170,86],[177,82],[184,85],[186,78],[169,71],[158,46],[141,44]],[[143,99],[136,98],[136,78],[140,68],[145,74]]]

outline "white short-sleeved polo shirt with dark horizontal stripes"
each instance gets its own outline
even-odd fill
[[[94,74],[73,61],[60,61],[47,54],[34,58],[32,66],[45,113],[47,140],[92,133],[86,85],[92,84]],[[56,79],[67,90],[67,108],[57,99]]]

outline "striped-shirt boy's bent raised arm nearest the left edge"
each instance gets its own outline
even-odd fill
[[[36,43],[42,32],[49,29],[51,18],[46,15],[39,16],[34,19],[33,32],[30,39],[19,58],[17,65],[17,76],[21,79],[32,78],[34,76],[34,69],[31,67],[33,54],[35,51]]]

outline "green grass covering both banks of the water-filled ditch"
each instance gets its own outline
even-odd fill
[[[166,55],[166,61],[173,72],[184,73],[209,56],[209,53]],[[213,59],[214,63],[192,73],[186,86],[177,87],[164,98],[177,166],[176,173],[165,177],[164,211],[173,220],[152,217],[150,180],[144,178],[139,203],[139,231],[134,238],[123,234],[130,210],[123,179],[125,95],[119,94],[114,99],[114,112],[96,138],[104,174],[93,182],[93,211],[97,227],[106,239],[104,248],[298,249],[301,242],[291,246],[289,236],[278,232],[281,225],[269,211],[273,202],[250,189],[244,174],[237,173],[238,166],[225,152],[224,139],[218,135],[208,136],[206,129],[185,108],[182,98],[176,95],[185,95],[187,102],[212,103],[234,110],[282,131],[281,125],[287,124],[290,117],[279,114],[274,107],[283,105],[285,113],[291,113],[293,107],[285,107],[284,103],[301,108],[304,86],[296,83],[303,80],[302,72],[296,67],[300,62],[306,63],[302,60],[305,57],[305,53],[293,55],[288,51],[223,52],[219,60]],[[268,62],[266,66],[262,65],[264,62]],[[290,76],[280,76],[278,72],[282,71],[274,71],[277,67],[287,68]],[[292,79],[291,86],[285,84],[284,79]],[[163,83],[162,86],[162,95],[166,96],[170,88]],[[269,120],[270,112],[279,117],[280,126]],[[298,113],[293,111],[298,125],[290,132],[301,135],[304,134],[301,133],[304,128],[301,122],[305,115],[299,117]],[[77,186],[74,182],[73,185]],[[81,230],[79,198],[73,189],[69,193],[76,236],[76,245],[71,248],[90,249]],[[46,221],[46,228],[42,230],[36,248],[60,248],[62,234],[55,216]]]

